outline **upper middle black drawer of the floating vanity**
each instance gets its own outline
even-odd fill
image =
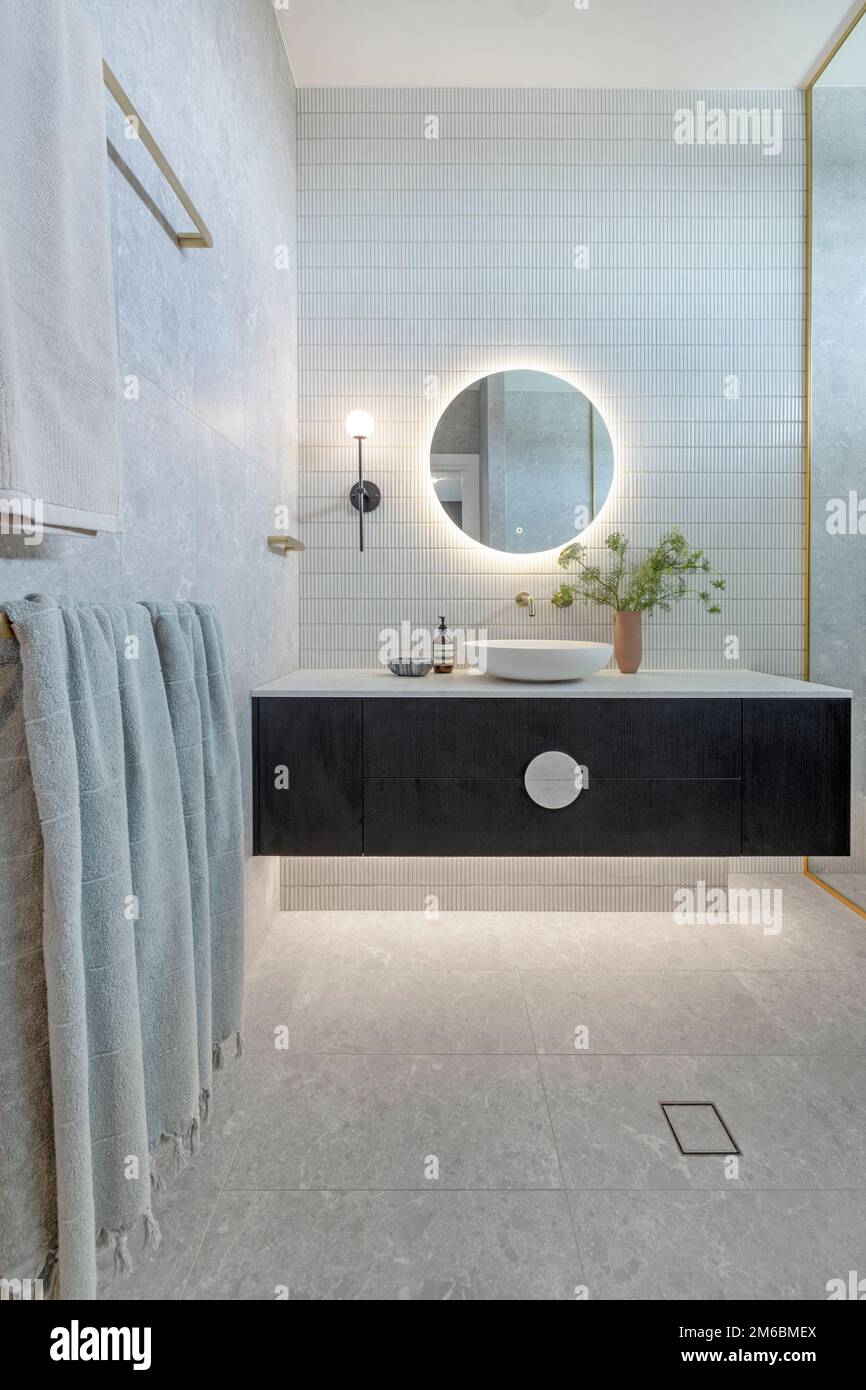
[[[364,701],[366,777],[523,777],[548,749],[591,780],[740,777],[741,701]]]

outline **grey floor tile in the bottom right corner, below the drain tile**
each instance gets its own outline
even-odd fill
[[[828,1280],[866,1268],[862,1193],[607,1191],[569,1202],[589,1300],[826,1300]]]

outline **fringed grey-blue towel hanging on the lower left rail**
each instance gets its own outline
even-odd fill
[[[158,1241],[156,1145],[168,1138],[177,1163],[186,1161],[210,1097],[210,1047],[221,1054],[232,1033],[240,1045],[238,749],[207,605],[160,609],[158,645],[143,605],[36,598],[6,609],[19,642],[44,842],[53,1095],[44,1138],[56,1162],[58,1291],[89,1298],[97,1234],[114,1241],[118,1272],[129,1266],[128,1236],[140,1218],[145,1243]],[[188,670],[175,678],[183,660]],[[197,723],[193,699],[179,698],[185,689]],[[33,941],[25,947],[35,956]],[[22,1105],[31,1129],[44,1126],[44,1101]],[[6,1122],[0,1155],[4,1143]],[[25,1222],[31,1233],[50,1225],[51,1213],[39,1211]]]

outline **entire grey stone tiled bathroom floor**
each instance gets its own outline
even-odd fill
[[[100,1297],[824,1298],[866,1272],[866,923],[798,876],[733,883],[781,891],[780,933],[282,915],[163,1245],[136,1233],[118,1282],[100,1252]],[[680,1155],[660,1101],[714,1101],[737,1169]]]

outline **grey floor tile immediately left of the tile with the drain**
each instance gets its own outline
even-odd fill
[[[284,1054],[282,1066],[228,1187],[562,1186],[535,1056]]]

